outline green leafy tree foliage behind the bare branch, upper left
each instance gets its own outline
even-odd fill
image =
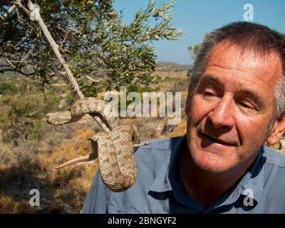
[[[130,24],[123,23],[123,12],[115,11],[113,0],[33,3],[40,6],[43,21],[86,96],[118,90],[122,85],[144,87],[155,83],[152,41],[174,40],[183,33],[171,23],[174,1],[156,6],[151,0]],[[8,1],[1,5],[0,15],[11,4]],[[62,76],[63,69],[36,22],[14,10],[6,21],[0,21],[0,26],[0,73],[14,71],[31,76],[43,90]]]

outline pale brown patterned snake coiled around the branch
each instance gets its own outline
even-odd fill
[[[118,118],[109,118],[103,110],[107,103],[100,98],[76,100],[68,111],[48,113],[46,122],[63,125],[80,120],[83,115],[97,115],[105,123],[110,133],[100,132],[91,138],[90,155],[78,157],[63,163],[58,169],[77,162],[98,158],[99,172],[106,187],[113,192],[121,192],[132,186],[136,180],[137,166],[134,152],[138,149],[140,138],[131,125],[118,125]]]

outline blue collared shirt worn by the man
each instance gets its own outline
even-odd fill
[[[214,204],[190,197],[177,174],[186,137],[150,141],[135,152],[138,177],[125,192],[110,192],[94,177],[81,213],[284,213],[285,156],[262,145],[248,172]]]

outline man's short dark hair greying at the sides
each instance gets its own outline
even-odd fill
[[[192,68],[190,82],[190,98],[195,92],[199,78],[204,73],[204,67],[210,51],[221,41],[230,41],[242,48],[249,48],[257,53],[276,51],[281,58],[282,76],[274,87],[275,109],[269,123],[269,130],[281,115],[285,113],[285,36],[266,26],[250,22],[234,22],[218,28],[204,37],[199,53]]]

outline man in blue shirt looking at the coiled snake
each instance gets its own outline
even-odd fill
[[[90,187],[82,213],[283,213],[285,158],[269,147],[285,130],[285,38],[266,26],[209,33],[187,97],[187,135],[135,152],[125,192]]]

